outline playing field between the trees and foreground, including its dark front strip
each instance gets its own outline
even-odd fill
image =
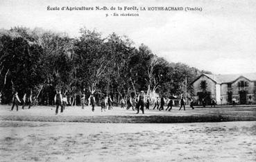
[[[60,110],[59,110],[60,111]],[[224,122],[256,120],[256,107],[187,107],[186,111],[173,107],[171,111],[145,110],[140,111],[121,109],[101,112],[96,107],[92,112],[91,107],[67,107],[62,114],[55,115],[55,107],[27,107],[19,111],[10,111],[9,105],[0,106],[0,120],[26,120],[42,122],[86,122],[86,123],[196,123],[196,122]]]

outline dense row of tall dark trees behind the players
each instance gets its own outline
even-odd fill
[[[80,37],[35,28],[0,30],[0,91],[3,102],[33,91],[41,104],[53,104],[56,90],[75,104],[81,93],[96,98],[121,96],[144,90],[151,97],[180,95],[182,82],[191,82],[202,71],[170,63],[148,46],[136,48],[128,37],[115,33],[103,37],[96,30],[80,29]],[[187,87],[191,90],[191,87]]]

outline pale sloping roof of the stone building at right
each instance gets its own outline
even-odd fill
[[[215,75],[215,74],[202,74],[214,80],[216,83],[227,83],[227,82],[234,82],[240,77],[244,77],[250,81],[256,81],[256,73],[237,73],[237,74],[225,74],[225,75]]]

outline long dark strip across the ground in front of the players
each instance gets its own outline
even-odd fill
[[[0,116],[0,120],[81,123],[202,123],[252,121],[256,116]]]

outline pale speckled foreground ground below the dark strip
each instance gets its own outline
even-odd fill
[[[256,161],[255,121],[0,126],[0,161]]]

